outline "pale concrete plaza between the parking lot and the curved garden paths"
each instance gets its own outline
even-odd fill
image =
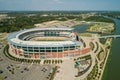
[[[75,80],[77,69],[74,67],[75,62],[71,59],[65,60],[60,65],[60,72],[56,74],[54,80]]]

